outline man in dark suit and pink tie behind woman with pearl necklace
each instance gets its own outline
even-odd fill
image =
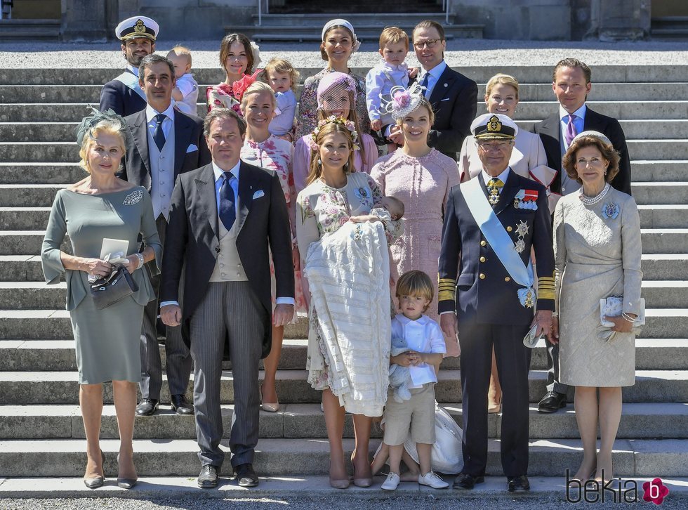
[[[600,131],[609,138],[621,159],[618,174],[611,185],[630,195],[630,157],[626,136],[616,119],[591,110],[586,99],[592,84],[590,67],[575,58],[565,58],[554,68],[552,89],[559,101],[559,112],[547,117],[535,126],[547,154],[547,164],[559,171],[550,185],[552,192],[560,195],[578,191],[581,185],[562,170],[562,157],[571,140],[583,131]],[[559,381],[559,344],[547,344],[547,393],[538,404],[540,412],[556,412],[567,404],[569,386]]]

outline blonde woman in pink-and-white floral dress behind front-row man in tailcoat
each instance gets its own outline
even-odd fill
[[[269,85],[260,81],[246,89],[242,98],[242,113],[246,119],[246,140],[242,148],[242,161],[260,166],[264,169],[274,170],[279,176],[279,183],[284,191],[284,200],[289,208],[289,221],[291,223],[291,237],[293,239],[293,262],[295,271],[295,311],[305,312],[305,300],[301,288],[301,272],[299,267],[298,247],[296,247],[296,228],[294,225],[294,202],[296,191],[291,171],[293,160],[293,145],[282,138],[273,136],[268,131],[270,120],[274,117],[274,108],[277,102],[274,92]],[[272,275],[272,304],[274,306],[274,268],[270,263]],[[294,320],[297,319],[294,314]],[[270,355],[263,360],[265,365],[265,379],[261,388],[261,402],[263,410],[277,412],[279,400],[275,390],[274,379],[277,374],[279,356],[282,353],[282,340],[284,339],[284,326],[272,327],[272,349]]]

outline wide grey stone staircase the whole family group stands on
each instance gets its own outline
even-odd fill
[[[529,129],[556,108],[549,66],[461,71],[482,84],[481,91],[497,71],[522,81],[522,128]],[[0,478],[83,474],[84,429],[65,285],[44,284],[39,252],[55,192],[84,175],[76,164],[74,126],[88,103],[98,103],[102,83],[117,72],[0,70]],[[304,69],[302,76],[315,72]],[[636,384],[623,391],[615,473],[688,476],[688,69],[610,65],[597,66],[593,73],[590,106],[621,119],[628,138],[647,301],[647,325],[637,340]],[[197,70],[201,84],[220,78],[218,70]],[[479,105],[478,111],[483,108]],[[199,114],[203,112],[199,104]],[[282,411],[260,414],[256,471],[263,476],[323,475],[328,445],[320,395],[307,384],[303,370],[305,322],[287,333],[277,374]],[[533,354],[530,473],[563,480],[565,470],[575,469],[581,457],[575,415],[571,405],[566,412],[538,414],[536,403],[545,392],[544,344]],[[458,367],[456,358],[444,361],[436,392],[460,421]],[[227,370],[222,385],[225,431],[232,417],[231,382]],[[169,400],[166,392],[164,387],[164,403]],[[105,400],[102,449],[105,469],[113,473],[118,442],[109,385]],[[488,423],[488,469],[499,474],[501,415],[490,415]],[[380,437],[378,431],[373,435]],[[351,447],[350,417],[345,436],[346,447]],[[195,477],[199,464],[193,418],[178,417],[166,406],[153,417],[137,418],[135,452],[142,477]]]

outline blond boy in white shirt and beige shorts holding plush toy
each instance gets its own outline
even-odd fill
[[[430,306],[433,292],[432,281],[423,271],[408,271],[397,282],[400,313],[392,319],[392,336],[404,339],[409,351],[391,356],[390,365],[409,367],[411,400],[399,403],[390,391],[385,405],[383,443],[390,451],[390,473],[382,484],[383,490],[396,490],[399,485],[399,464],[409,429],[421,465],[418,484],[434,489],[449,487],[449,483],[433,473],[430,467],[432,445],[435,443],[435,367],[442,362],[442,355],[446,352],[439,325],[423,315]]]

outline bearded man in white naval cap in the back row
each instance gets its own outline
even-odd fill
[[[127,18],[114,30],[122,41],[122,55],[126,58],[126,69],[100,91],[100,111],[111,109],[126,117],[144,110],[146,95],[138,80],[138,66],[146,55],[155,51],[158,24],[145,16]]]

